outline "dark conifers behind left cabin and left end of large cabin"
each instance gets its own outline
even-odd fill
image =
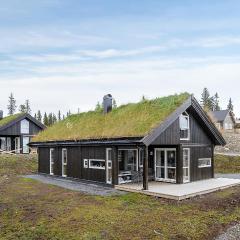
[[[20,104],[19,106],[17,106],[17,101],[14,98],[13,93],[11,93],[9,96],[7,109],[8,109],[8,115],[13,115],[17,112],[28,113],[30,115],[32,113],[29,99],[27,99],[23,104]],[[70,115],[71,115],[70,110],[66,113],[66,115],[62,114],[60,110],[58,111],[57,114],[52,112],[51,113],[44,112],[42,114],[41,111],[38,110],[34,114],[34,118],[36,118],[38,121],[43,123],[45,126],[51,126],[56,122],[61,121]]]

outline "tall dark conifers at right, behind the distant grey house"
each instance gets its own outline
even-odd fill
[[[213,96],[210,95],[210,92],[205,87],[202,92],[201,104],[206,111],[219,111],[221,110],[219,103],[219,95],[215,93]],[[233,101],[232,98],[229,99],[227,109],[233,112]]]

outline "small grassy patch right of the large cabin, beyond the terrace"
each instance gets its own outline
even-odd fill
[[[215,155],[215,173],[240,173],[240,156]]]

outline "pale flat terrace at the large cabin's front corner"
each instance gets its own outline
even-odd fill
[[[187,184],[171,184],[164,182],[149,182],[149,189],[142,190],[142,184],[128,183],[115,186],[118,190],[138,192],[146,195],[183,200],[202,194],[207,194],[240,184],[240,179],[214,178]]]

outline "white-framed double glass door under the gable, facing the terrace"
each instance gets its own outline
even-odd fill
[[[176,149],[155,149],[155,180],[176,182]]]

